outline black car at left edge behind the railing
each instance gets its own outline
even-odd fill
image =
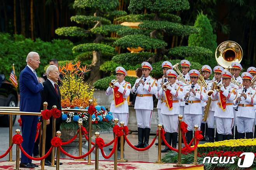
[[[4,75],[0,74],[0,106],[18,106],[18,92],[11,82],[5,79]],[[17,115],[13,115],[13,124]],[[9,115],[0,114],[0,126],[9,127]]]

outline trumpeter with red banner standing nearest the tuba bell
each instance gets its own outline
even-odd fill
[[[221,75],[224,85],[220,87],[220,92],[214,90],[214,93],[211,95],[212,100],[218,99],[214,112],[218,141],[232,139],[231,129],[233,128],[234,119],[233,100],[237,96],[236,89],[230,86],[232,74],[227,70],[223,70]]]

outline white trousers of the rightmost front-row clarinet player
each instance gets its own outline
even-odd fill
[[[237,131],[238,133],[252,132],[253,130],[253,118],[237,117]]]

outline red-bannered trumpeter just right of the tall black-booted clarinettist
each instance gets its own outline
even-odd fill
[[[177,73],[169,69],[167,71],[168,83],[164,83],[167,89],[163,90],[161,87],[157,96],[163,97],[163,104],[161,105],[161,114],[163,115],[163,123],[165,125],[165,139],[168,144],[172,144],[172,147],[177,147],[177,137],[178,137],[178,115],[179,115],[179,100],[183,96],[183,89],[181,86],[175,83],[177,79]],[[170,151],[169,147],[166,146],[161,152],[165,153]]]

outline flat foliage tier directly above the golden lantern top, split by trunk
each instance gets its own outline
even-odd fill
[[[119,23],[143,22],[143,21],[147,21],[147,20],[153,20],[154,16],[155,16],[155,14],[130,14],[127,16],[117,17],[114,20]],[[162,19],[170,21],[170,22],[174,22],[174,23],[181,22],[181,17],[174,15],[174,14],[168,14],[168,13],[160,14],[160,20],[162,20]]]

